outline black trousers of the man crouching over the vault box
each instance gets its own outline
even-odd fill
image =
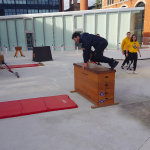
[[[94,54],[91,57],[93,62],[103,62],[109,63],[110,65],[113,63],[113,59],[103,56],[103,51],[107,47],[108,43],[99,43],[95,47]]]

